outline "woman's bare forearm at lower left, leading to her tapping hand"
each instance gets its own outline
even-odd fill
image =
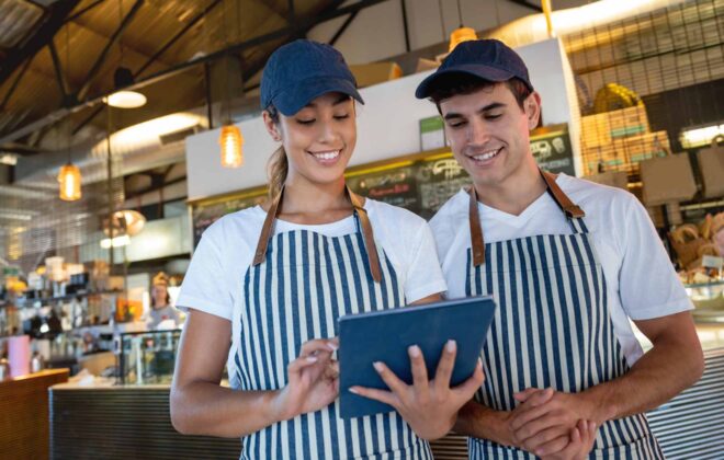
[[[184,435],[241,437],[280,422],[276,391],[234,391],[197,381],[171,390],[171,421]]]

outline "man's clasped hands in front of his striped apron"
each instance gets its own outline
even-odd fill
[[[545,403],[527,404],[529,399],[536,398],[542,392],[552,393]],[[528,389],[516,393],[514,398],[523,403],[513,412],[510,421],[514,442],[518,447],[538,456],[542,455],[539,453],[541,449],[553,453],[566,448],[579,422],[588,421],[593,425],[600,423],[591,419],[593,410],[581,393]]]

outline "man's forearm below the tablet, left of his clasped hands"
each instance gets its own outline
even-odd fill
[[[509,416],[509,412],[495,411],[476,401],[470,401],[457,413],[453,430],[460,435],[489,439],[502,446],[512,446]]]

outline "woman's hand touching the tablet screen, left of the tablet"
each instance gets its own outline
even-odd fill
[[[286,368],[287,384],[276,393],[272,404],[278,419],[319,411],[337,399],[339,379],[332,353],[338,344],[338,338],[330,338],[302,345],[299,356]]]

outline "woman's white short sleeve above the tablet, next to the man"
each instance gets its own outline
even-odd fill
[[[405,285],[405,298],[408,303],[448,290],[440,268],[432,231],[427,222],[421,223],[415,243],[411,245],[415,250],[407,268],[407,283]]]

